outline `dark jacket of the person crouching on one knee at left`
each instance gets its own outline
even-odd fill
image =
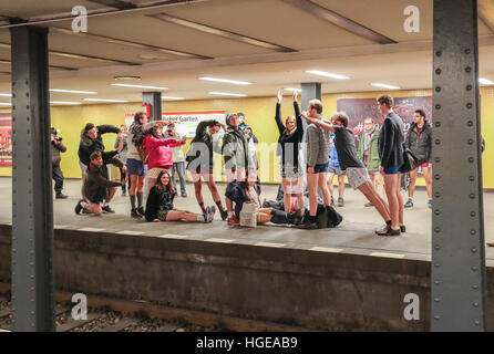
[[[116,167],[123,167],[123,163],[116,157],[113,157],[110,163],[112,163]],[[121,181],[109,180],[106,178],[105,169],[105,165],[100,168],[91,164],[88,165],[88,179],[84,184],[84,196],[91,202],[103,201],[106,196],[107,188],[122,186]]]

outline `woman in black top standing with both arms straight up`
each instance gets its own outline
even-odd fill
[[[284,186],[285,211],[291,211],[292,188],[296,190],[297,209],[296,223],[300,223],[303,217],[303,170],[299,164],[299,149],[303,138],[303,124],[300,108],[297,102],[297,91],[294,91],[295,116],[288,116],[285,125],[281,121],[281,90],[278,91],[276,103],[276,125],[278,126],[279,138],[277,155],[280,156],[281,184]]]

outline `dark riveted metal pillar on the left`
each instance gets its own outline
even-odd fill
[[[54,331],[48,30],[11,29],[14,331]]]

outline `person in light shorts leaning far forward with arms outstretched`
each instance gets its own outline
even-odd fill
[[[335,132],[335,145],[338,152],[338,159],[340,162],[341,169],[347,170],[349,184],[353,187],[353,189],[359,189],[366,196],[366,198],[372,202],[387,225],[391,225],[389,206],[375,191],[369,178],[367,168],[363,166],[357,154],[353,132],[348,128],[348,115],[344,112],[335,114],[331,117],[333,125],[322,122],[322,119],[311,118],[303,113],[302,116],[310,123],[313,123],[326,131]]]

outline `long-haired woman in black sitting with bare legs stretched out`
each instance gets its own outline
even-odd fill
[[[187,210],[177,210],[173,208],[173,199],[175,190],[173,188],[172,178],[167,170],[162,170],[157,178],[156,185],[150,190],[146,202],[146,212],[144,217],[147,221],[198,221],[213,222],[216,208],[207,207],[205,214],[194,214]]]

